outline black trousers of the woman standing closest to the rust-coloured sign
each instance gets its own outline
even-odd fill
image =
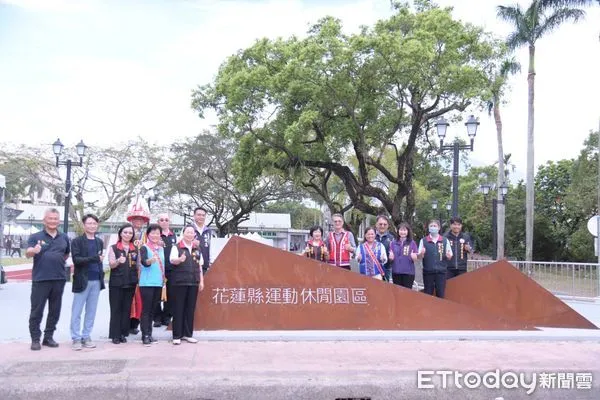
[[[194,334],[194,312],[198,299],[198,285],[172,286],[173,339],[192,337]]]

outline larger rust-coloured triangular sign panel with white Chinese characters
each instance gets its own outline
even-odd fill
[[[194,330],[520,330],[489,314],[233,237],[205,278]]]

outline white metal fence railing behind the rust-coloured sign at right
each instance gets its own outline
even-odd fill
[[[467,268],[471,271],[493,262],[493,260],[469,260]],[[598,264],[542,261],[510,261],[510,263],[556,295],[600,296]]]

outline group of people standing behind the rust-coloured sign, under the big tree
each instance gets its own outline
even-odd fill
[[[417,245],[409,224],[402,222],[396,232],[390,231],[386,216],[377,217],[375,227],[364,231],[364,240],[356,245],[352,232],[344,229],[341,214],[332,215],[333,230],[326,238],[323,228],[310,229],[310,239],[304,249],[306,257],[350,270],[355,257],[362,275],[393,282],[412,289],[415,281],[415,261],[423,263],[424,292],[443,298],[446,280],[467,272],[467,260],[473,252],[470,235],[462,231],[462,219],[453,217],[450,230],[442,235],[438,220],[430,220],[428,234]]]

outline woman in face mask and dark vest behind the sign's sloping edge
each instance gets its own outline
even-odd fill
[[[440,235],[440,222],[429,221],[429,235],[419,242],[419,257],[423,259],[423,285],[425,293],[444,298],[446,291],[447,262],[452,258],[452,246]]]

